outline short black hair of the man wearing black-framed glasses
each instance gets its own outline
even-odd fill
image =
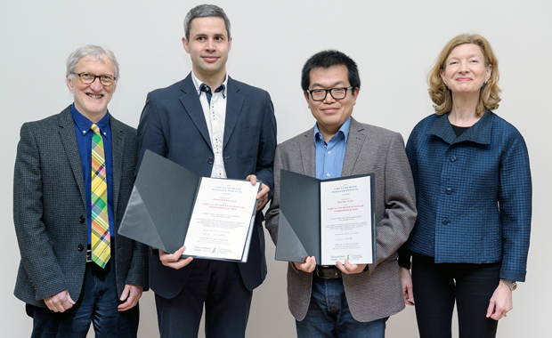
[[[354,88],[361,88],[361,76],[359,76],[359,68],[356,62],[349,58],[343,52],[336,50],[327,50],[317,52],[306,60],[301,72],[301,87],[304,91],[309,89],[311,84],[311,69],[313,68],[330,68],[332,66],[345,66],[349,74],[349,84]]]

